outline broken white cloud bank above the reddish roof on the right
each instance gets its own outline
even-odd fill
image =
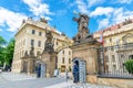
[[[105,18],[103,18],[103,15],[105,15]],[[91,16],[100,18],[98,20],[98,30],[101,30],[115,23],[120,23],[125,19],[133,19],[133,11],[124,10],[124,8],[98,7],[94,11],[91,12]]]

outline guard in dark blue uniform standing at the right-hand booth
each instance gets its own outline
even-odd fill
[[[73,63],[73,82],[79,82],[79,66],[76,63]]]

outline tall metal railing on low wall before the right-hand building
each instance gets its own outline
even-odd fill
[[[111,51],[113,48],[113,51]],[[114,52],[114,53],[112,53]],[[105,54],[104,54],[105,53]],[[99,77],[132,78],[124,63],[133,56],[133,44],[98,48]],[[132,68],[132,65],[131,65]]]

